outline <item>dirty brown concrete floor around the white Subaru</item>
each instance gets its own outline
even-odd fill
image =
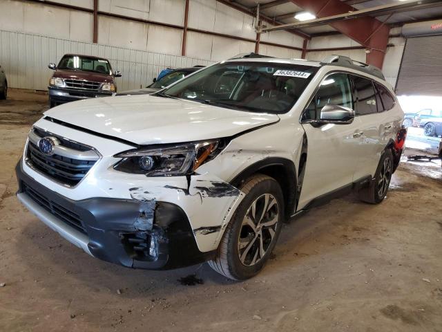
[[[44,96],[0,102],[0,331],[442,331],[442,173],[402,163],[381,205],[347,196],[291,220],[258,277],[128,270],[89,257],[15,198]],[[416,151],[407,151],[414,153]],[[204,284],[178,279],[196,273]]]

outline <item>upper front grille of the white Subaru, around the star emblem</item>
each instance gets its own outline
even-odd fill
[[[26,151],[27,163],[39,172],[54,178],[64,185],[70,187],[77,185],[99,158],[98,154],[90,147],[81,145],[78,142],[55,136],[38,128],[32,129],[31,133],[35,135],[30,134],[29,136],[28,150]],[[45,136],[57,138],[60,142],[59,145],[66,148],[64,155],[55,153],[48,156],[42,153],[38,147],[38,140]],[[69,152],[66,154],[66,151],[71,151],[72,156],[69,155]],[[92,158],[90,160],[75,158],[77,155],[84,154],[85,152],[91,153]]]

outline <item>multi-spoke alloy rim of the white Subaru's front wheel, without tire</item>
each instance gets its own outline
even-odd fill
[[[278,226],[278,201],[271,194],[258,197],[242,219],[238,255],[244,266],[253,266],[265,256]]]

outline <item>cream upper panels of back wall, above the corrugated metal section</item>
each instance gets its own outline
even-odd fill
[[[81,8],[93,8],[93,0],[59,0]],[[98,10],[175,26],[184,25],[184,0],[99,0]],[[93,14],[45,3],[21,0],[0,1],[0,30],[17,31],[93,42]],[[220,61],[255,49],[255,18],[215,0],[190,0],[189,29],[231,35],[249,41],[218,37],[189,31],[186,56]],[[146,52],[181,55],[182,29],[146,24],[115,17],[98,17],[98,44],[144,50]],[[261,36],[262,42],[302,48],[303,38],[277,31]],[[300,50],[260,45],[260,53],[276,57],[300,56]]]

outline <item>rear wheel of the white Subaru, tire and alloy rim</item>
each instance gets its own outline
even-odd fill
[[[359,199],[365,203],[378,204],[385,199],[390,181],[392,181],[392,174],[394,171],[394,159],[392,150],[385,149],[379,160],[376,174],[374,174],[374,181],[358,192]]]

